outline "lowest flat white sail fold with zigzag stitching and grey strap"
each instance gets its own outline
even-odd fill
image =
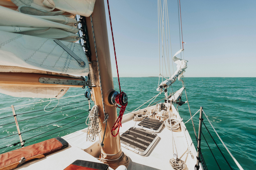
[[[87,57],[78,43],[62,41],[85,62],[84,67],[53,39],[3,31],[0,31],[0,36],[0,65],[79,76],[89,74]]]

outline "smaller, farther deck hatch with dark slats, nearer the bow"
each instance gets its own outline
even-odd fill
[[[138,128],[155,133],[159,132],[163,126],[164,121],[159,121],[152,118],[145,118],[137,125]]]

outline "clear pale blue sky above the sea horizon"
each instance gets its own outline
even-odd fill
[[[119,76],[158,76],[157,0],[110,0],[110,12]],[[180,49],[176,0],[168,1],[168,12],[174,54]],[[256,77],[256,1],[181,0],[181,18],[186,77]],[[117,77],[108,15],[107,24]]]

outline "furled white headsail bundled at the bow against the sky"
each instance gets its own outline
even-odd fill
[[[187,60],[182,60],[180,58],[177,58],[176,56],[181,53],[184,49],[180,49],[178,52],[176,52],[173,56],[173,61],[177,64],[177,70],[175,73],[167,80],[163,81],[159,87],[156,89],[157,91],[161,91],[166,87],[169,87],[172,83],[176,81],[178,78],[179,81],[181,81],[181,77],[183,77],[183,73],[185,72],[185,69],[187,68]]]

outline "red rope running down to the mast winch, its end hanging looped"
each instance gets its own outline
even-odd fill
[[[114,35],[113,35],[113,29],[112,29],[112,22],[111,22],[111,16],[110,16],[110,10],[109,10],[109,2],[107,0],[107,3],[108,3],[108,14],[109,14],[109,20],[110,20],[110,27],[111,27],[111,33],[112,33],[112,40],[113,40],[113,46],[114,46],[114,53],[115,53],[115,59],[116,59],[116,48],[115,48],[115,41],[114,41]],[[117,70],[117,77],[118,77],[118,84],[119,84],[119,90],[120,90],[120,94],[116,95],[116,98],[115,98],[115,102],[120,105],[121,107],[119,107],[118,105],[116,107],[120,108],[120,112],[119,112],[119,116],[115,122],[115,124],[113,125],[112,127],[112,130],[111,130],[111,134],[112,136],[117,136],[118,132],[119,132],[119,129],[120,127],[122,127],[122,118],[123,118],[123,114],[124,114],[124,111],[125,111],[125,108],[127,106],[127,103],[126,104],[122,104],[121,103],[121,100],[122,100],[122,96],[125,94],[124,92],[121,92],[121,86],[120,86],[120,80],[119,80],[119,73],[118,73],[118,67],[117,67],[117,59],[116,59],[116,70]],[[113,131],[114,130],[117,130],[117,133],[114,135],[113,134]]]

